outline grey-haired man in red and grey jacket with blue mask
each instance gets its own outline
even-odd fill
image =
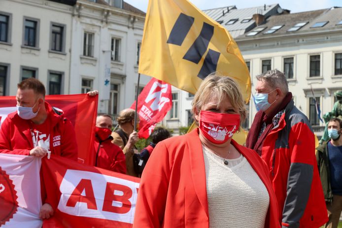
[[[297,109],[285,75],[257,76],[258,110],[246,139],[269,166],[282,228],[319,228],[328,221],[308,118]]]

